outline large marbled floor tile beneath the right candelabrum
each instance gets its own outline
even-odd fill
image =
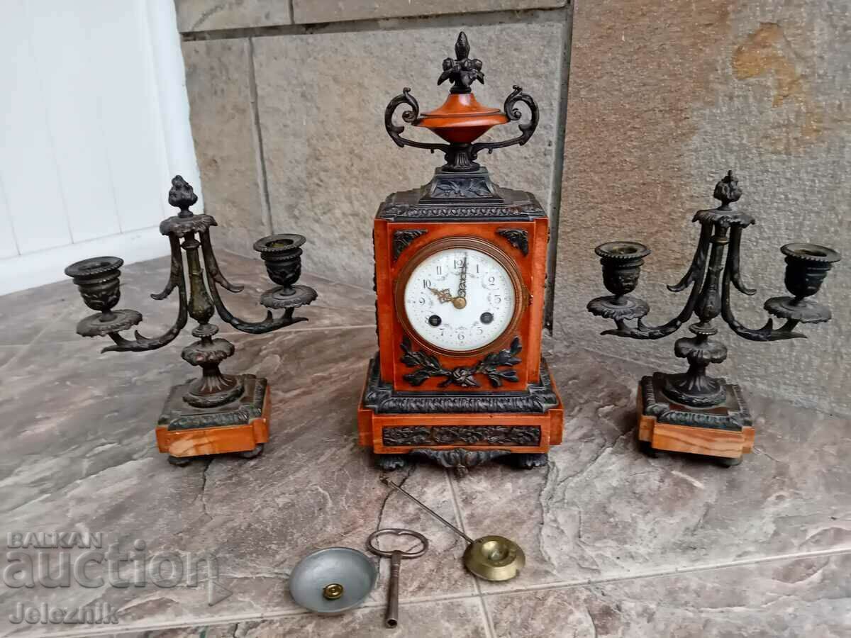
[[[514,538],[511,584],[625,578],[815,550],[851,550],[851,421],[751,397],[756,451],[734,468],[637,449],[640,368],[553,344],[564,442],[546,468],[477,468],[456,483],[467,532]],[[500,486],[500,489],[494,489]]]

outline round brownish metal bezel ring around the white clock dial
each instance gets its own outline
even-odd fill
[[[505,269],[505,272],[508,273],[508,277],[511,280],[511,285],[514,288],[514,310],[511,314],[511,321],[508,322],[505,330],[503,330],[499,336],[475,350],[449,350],[448,348],[442,348],[438,345],[429,343],[426,339],[420,337],[420,333],[414,330],[413,326],[411,326],[411,323],[408,321],[408,312],[405,310],[405,287],[408,285],[408,279],[410,279],[414,269],[416,269],[416,267],[423,261],[431,257],[431,255],[440,253],[443,250],[450,250],[452,248],[468,248],[470,250],[477,250],[480,253],[487,254],[488,257],[496,260],[496,262]],[[513,333],[517,331],[517,326],[523,318],[523,310],[529,303],[528,289],[523,284],[523,277],[520,274],[520,268],[517,265],[517,262],[514,259],[511,259],[511,257],[505,254],[500,248],[494,246],[494,244],[487,242],[480,237],[466,235],[449,236],[437,239],[434,242],[426,244],[426,246],[420,248],[420,250],[411,255],[411,258],[408,259],[408,262],[403,266],[403,269],[399,271],[393,294],[395,297],[394,301],[397,321],[402,325],[402,329],[406,334],[408,334],[408,337],[410,337],[414,343],[419,345],[420,348],[444,356],[453,356],[456,358],[477,356],[483,352],[487,352],[488,350],[494,350],[507,342]]]

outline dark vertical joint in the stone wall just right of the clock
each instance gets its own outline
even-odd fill
[[[552,173],[550,175],[550,244],[546,250],[546,273],[544,291],[544,328],[552,334],[555,322],[556,265],[558,253],[558,230],[562,217],[562,185],[564,179],[564,137],[568,118],[568,81],[570,79],[570,48],[573,42],[574,5],[568,3],[564,9],[562,26],[562,55],[559,61],[558,99],[556,101],[556,142],[553,149]]]

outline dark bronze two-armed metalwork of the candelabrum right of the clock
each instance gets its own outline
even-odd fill
[[[728,385],[723,379],[706,373],[710,363],[721,363],[727,358],[727,347],[711,339],[717,333],[712,321],[720,315],[734,333],[751,341],[806,336],[796,332],[799,323],[820,323],[831,318],[831,311],[825,305],[807,298],[819,291],[821,282],[840,256],[831,248],[808,243],[789,243],[780,248],[786,262],[784,282],[792,296],[772,297],[763,307],[769,315],[780,317],[785,322],[780,328],[774,328],[773,320],[769,318],[762,328],[747,328],[736,319],[730,305],[730,284],[745,295],[757,292],[745,287],[740,275],[741,233],[754,224],[755,219],[731,206],[741,197],[739,182],[732,171],[717,183],[713,197],[721,202],[718,208],[694,214],[693,221],[700,223],[700,240],[692,264],[680,282],[668,287],[675,293],[691,287],[688,300],[677,316],[658,326],[648,326],[643,322],[650,307],[646,301],[630,293],[637,286],[643,259],[650,250],[637,242],[608,242],[597,246],[595,253],[603,265],[603,283],[612,294],[592,299],[588,310],[594,315],[614,320],[616,328],[605,330],[603,334],[631,339],[661,339],[676,332],[691,316],[696,316],[698,321],[688,327],[694,337],[677,339],[674,345],[675,354],[688,361],[688,370],[684,373],[657,373],[655,380],[645,377],[642,381],[644,391],[639,392],[640,397],[644,396],[643,415],[639,416],[652,417],[660,424],[715,429],[718,429],[718,419],[724,416],[727,419],[724,423],[742,432],[743,427],[750,427],[750,422],[745,424],[742,419],[729,417],[729,414],[749,414],[744,399],[737,396],[735,409],[732,412],[727,410],[729,396],[738,395],[738,386]],[[627,323],[631,320],[637,320],[635,326]],[[683,438],[688,436],[688,432],[683,430],[665,436]],[[650,439],[642,440],[652,443]],[[663,449],[688,451],[679,444],[678,447]],[[710,451],[706,453],[713,453],[711,448],[707,450]],[[741,450],[728,446],[725,452],[716,455],[735,462],[740,460]]]

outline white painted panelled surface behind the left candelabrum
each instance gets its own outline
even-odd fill
[[[0,0],[0,114],[0,294],[168,253],[169,179],[200,194],[172,0]]]

